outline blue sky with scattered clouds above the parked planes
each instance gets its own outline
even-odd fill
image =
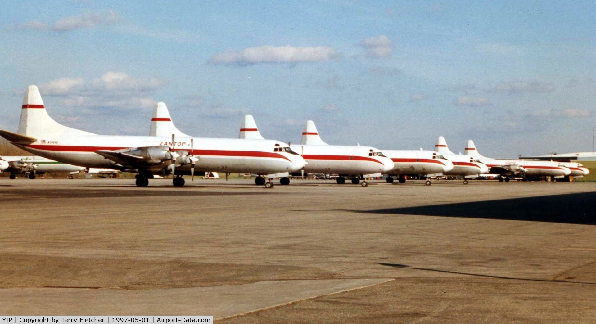
[[[491,157],[591,151],[596,4],[552,1],[7,1],[0,128],[24,89],[54,119],[145,135],[157,101],[182,132]]]

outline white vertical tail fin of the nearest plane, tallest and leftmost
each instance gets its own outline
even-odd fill
[[[25,91],[18,133],[34,138],[44,138],[48,135],[92,134],[84,130],[64,126],[49,117],[48,111],[45,110],[44,101],[41,99],[41,94],[39,94],[39,89],[35,85],[30,85]]]

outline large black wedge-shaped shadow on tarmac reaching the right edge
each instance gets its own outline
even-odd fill
[[[596,192],[357,211],[596,225]]]

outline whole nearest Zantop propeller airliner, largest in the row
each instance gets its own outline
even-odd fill
[[[49,117],[33,85],[25,92],[22,108],[18,133],[0,130],[2,137],[52,160],[136,172],[137,186],[147,186],[153,175],[177,175],[173,184],[182,186],[182,175],[194,176],[195,170],[279,176],[305,166],[304,159],[280,141],[97,135],[73,129]]]

